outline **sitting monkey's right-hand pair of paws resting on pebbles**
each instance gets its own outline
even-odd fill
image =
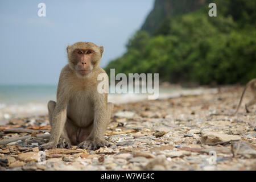
[[[77,148],[84,148],[86,150],[97,150],[100,147],[110,147],[111,143],[107,142],[106,140],[100,140],[99,142],[93,140],[85,140],[81,142]]]

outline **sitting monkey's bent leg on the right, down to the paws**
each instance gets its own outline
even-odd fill
[[[99,131],[95,131],[95,128],[92,130],[92,132],[90,133],[88,139],[86,139],[84,142],[81,142],[77,148],[85,148],[87,150],[97,150],[100,147],[110,147],[112,144],[107,142],[103,137],[106,131],[106,128],[109,125],[110,122],[110,117],[111,117],[111,113],[113,110],[113,104],[112,103],[107,103],[106,105],[106,112],[104,115],[104,120],[102,120],[101,122],[101,130]],[[95,120],[95,119],[94,119]],[[95,122],[95,121],[94,121]],[[94,123],[94,127],[95,125],[97,125],[97,123]],[[95,134],[97,135],[97,138],[95,137]],[[102,137],[101,137],[102,135]]]

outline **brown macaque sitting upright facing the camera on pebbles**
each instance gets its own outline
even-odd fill
[[[113,104],[108,103],[108,93],[97,90],[101,81],[97,80],[98,75],[106,74],[99,67],[103,51],[102,46],[90,42],[67,47],[68,64],[60,73],[57,101],[48,102],[51,137],[48,143],[39,146],[40,150],[71,145],[97,150],[111,145],[104,134]]]

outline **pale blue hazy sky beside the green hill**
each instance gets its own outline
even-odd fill
[[[1,0],[0,85],[57,84],[66,47],[75,42],[104,46],[104,68],[125,53],[153,6],[154,0]]]

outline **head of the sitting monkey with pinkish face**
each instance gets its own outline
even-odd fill
[[[85,77],[97,68],[104,51],[103,46],[91,42],[77,42],[67,47],[69,67],[78,76]]]

